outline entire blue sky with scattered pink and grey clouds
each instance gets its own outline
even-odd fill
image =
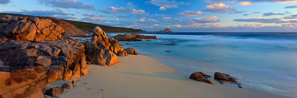
[[[148,32],[297,32],[297,0],[0,0],[0,12]]]

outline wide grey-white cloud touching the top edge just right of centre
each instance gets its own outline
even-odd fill
[[[166,7],[166,8],[178,8],[179,5],[190,5],[189,2],[178,2],[178,1],[170,1],[170,0],[151,0],[146,1],[145,4],[152,4],[159,7]]]

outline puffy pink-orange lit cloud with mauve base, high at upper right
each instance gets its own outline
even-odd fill
[[[243,13],[244,11],[237,11],[235,8],[230,7],[229,5],[225,5],[223,3],[219,4],[211,4],[206,6],[206,9],[203,11],[211,12],[211,13],[229,13],[229,14],[236,14],[236,13]]]

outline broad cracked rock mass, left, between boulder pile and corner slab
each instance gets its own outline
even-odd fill
[[[87,75],[84,46],[71,40],[15,41],[2,36],[0,60],[5,62],[6,71],[32,66],[45,66],[48,82],[69,80]]]

